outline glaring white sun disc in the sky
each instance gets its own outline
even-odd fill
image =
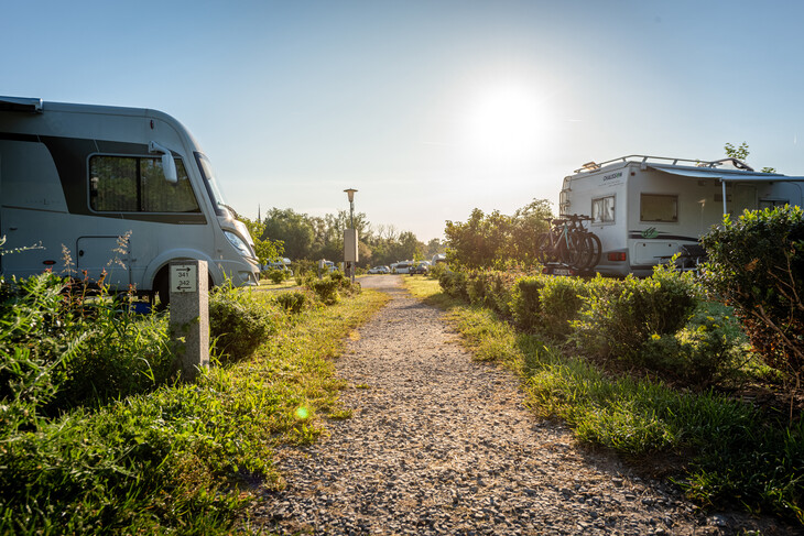
[[[496,162],[532,156],[544,142],[545,112],[539,96],[517,85],[480,92],[468,116],[471,151]]]

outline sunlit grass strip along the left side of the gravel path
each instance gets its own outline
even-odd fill
[[[230,534],[254,482],[282,485],[272,449],[348,416],[332,358],[388,299],[367,291],[284,315],[249,360],[194,384],[18,430],[0,445],[0,534]]]

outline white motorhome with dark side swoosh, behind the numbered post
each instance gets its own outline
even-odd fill
[[[0,97],[0,272],[73,269],[166,299],[173,260],[256,285],[253,241],[191,133],[165,113]],[[123,239],[120,243],[121,237]],[[121,247],[122,245],[122,247]]]

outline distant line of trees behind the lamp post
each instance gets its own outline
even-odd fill
[[[254,239],[280,242],[283,244],[281,254],[294,261],[341,261],[344,230],[351,227],[347,210],[319,217],[275,207],[268,211],[260,223],[264,228]],[[438,239],[425,244],[411,231],[399,231],[393,226],[373,226],[363,212],[355,214],[355,229],[359,237],[358,266],[431,259],[436,253],[446,251],[446,245]]]

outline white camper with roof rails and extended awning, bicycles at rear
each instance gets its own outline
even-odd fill
[[[804,177],[758,173],[736,158],[700,162],[630,155],[590,162],[564,178],[562,215],[591,216],[605,275],[650,275],[675,253],[702,253],[698,238],[743,210],[802,204]]]

